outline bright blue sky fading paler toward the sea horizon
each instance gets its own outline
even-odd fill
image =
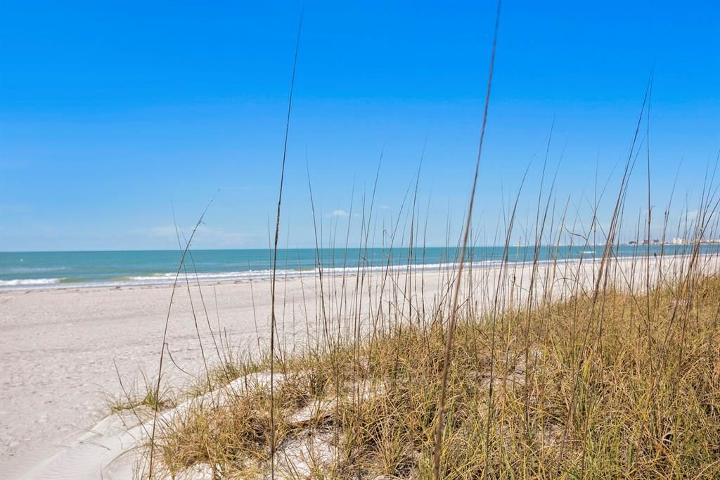
[[[301,9],[0,0],[0,251],[174,248],[173,209],[189,228],[217,189],[194,247],[267,246]],[[384,147],[379,229],[424,144],[418,204],[427,243],[444,244],[467,203],[494,17],[492,1],[305,1],[282,244],[314,244],[306,152],[328,231],[359,222],[351,192],[357,212]],[[558,203],[582,209],[595,172],[605,182],[626,158],[653,67],[652,203],[667,203],[682,160],[677,209],[693,208],[720,148],[719,32],[717,1],[505,1],[481,236],[492,243],[528,164],[518,212],[534,215],[553,122]]]

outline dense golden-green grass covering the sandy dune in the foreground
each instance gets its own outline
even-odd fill
[[[708,276],[649,294],[578,293],[495,316],[462,311],[441,476],[720,475],[719,306],[720,277]],[[281,478],[431,478],[445,344],[438,309],[359,345],[287,358],[272,399],[268,382],[240,375],[223,401],[198,402],[158,426],[156,475],[197,464],[217,478],[268,474],[274,410]],[[325,440],[315,450],[287,448],[310,437]],[[283,471],[282,455],[301,455],[308,466]]]

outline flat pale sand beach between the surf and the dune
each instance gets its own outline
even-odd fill
[[[719,270],[717,257],[701,257],[700,260],[704,272]],[[672,279],[684,262],[682,257],[652,259],[652,281],[657,279],[660,268],[667,280]],[[611,276],[638,288],[637,285],[644,285],[644,267],[641,268],[644,265],[644,262],[618,259],[611,262],[611,268],[617,268],[621,274]],[[552,284],[554,298],[559,298],[567,295],[575,285],[588,288],[593,285],[597,267],[597,262],[592,261],[582,265],[577,261],[557,266],[541,264],[537,278],[544,280],[536,282],[537,291]],[[514,276],[518,292],[516,301],[523,301],[531,266],[509,268],[510,275],[503,284],[511,283]],[[447,272],[425,272],[424,283],[420,281],[421,275],[420,272],[410,276],[397,272],[397,281],[387,281],[382,295],[397,301],[397,293],[407,291],[406,280],[410,279],[413,302],[418,304],[419,299],[424,298],[432,303],[433,295],[444,291]],[[484,308],[500,279],[500,267],[475,268],[473,277],[476,279],[473,283],[475,299]],[[551,280],[549,283],[545,281],[548,279]],[[380,280],[376,275],[365,284],[365,288],[370,285],[373,292],[367,297],[374,301],[378,299]],[[342,279],[325,277],[324,281],[326,298],[335,298],[325,304],[325,309],[328,315],[337,315],[346,307],[337,302],[341,295],[328,296],[328,291],[339,291]],[[302,345],[308,332],[315,330],[317,282],[316,277],[278,282],[278,316],[282,319],[279,330],[286,348],[290,348],[292,342]],[[258,336],[268,338],[269,285],[268,280],[204,284],[202,299],[197,285],[191,285],[192,308],[187,285],[179,285],[167,340],[175,362],[191,372],[198,372],[202,366],[193,308],[209,361],[217,359],[217,355],[207,326],[208,319],[212,332],[218,334],[220,325],[233,345],[256,345]],[[350,290],[350,285],[354,288],[353,277],[348,277],[346,290]],[[140,372],[150,376],[156,374],[171,292],[168,285],[0,292],[1,478],[22,478],[42,461],[76,445],[78,435],[108,416],[104,395],[122,393],[114,362],[124,381]],[[190,380],[172,366],[168,368],[168,374],[171,381]],[[91,471],[98,474],[96,478],[100,478],[104,466],[92,465],[92,468]]]

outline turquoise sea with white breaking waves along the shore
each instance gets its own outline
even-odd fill
[[[665,254],[685,253],[689,246],[666,245]],[[602,246],[542,247],[541,260],[593,258],[601,254]],[[660,254],[661,247],[650,247],[651,254]],[[719,245],[703,245],[703,252],[719,252]],[[620,257],[647,254],[647,246],[620,246]],[[513,247],[508,252],[511,261],[531,261],[534,247]],[[454,249],[428,247],[413,249],[411,262],[436,269],[454,259]],[[278,251],[278,275],[292,277],[313,275],[318,265],[324,273],[355,270],[359,264],[382,270],[388,262],[401,267],[408,265],[408,249],[281,249]],[[474,265],[494,265],[502,260],[500,246],[472,249]],[[318,259],[319,257],[319,259]],[[63,288],[93,285],[148,285],[171,283],[180,262],[181,252],[173,250],[125,252],[0,252],[0,289]],[[318,262],[319,260],[319,262]],[[186,257],[186,267],[200,280],[261,279],[270,276],[271,251],[256,250],[194,250]]]

